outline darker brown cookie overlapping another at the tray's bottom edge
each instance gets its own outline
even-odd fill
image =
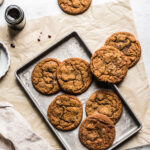
[[[79,129],[81,143],[90,150],[105,150],[115,139],[113,122],[105,115],[94,114],[87,117]]]

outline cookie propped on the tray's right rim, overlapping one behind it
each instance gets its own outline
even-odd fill
[[[128,71],[126,57],[112,46],[101,47],[92,55],[91,71],[99,81],[119,83]]]

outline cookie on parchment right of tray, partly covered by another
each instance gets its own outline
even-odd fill
[[[141,57],[141,46],[133,34],[117,32],[112,34],[105,42],[106,46],[113,46],[127,57],[128,67],[134,66]]]

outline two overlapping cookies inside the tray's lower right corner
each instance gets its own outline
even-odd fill
[[[87,118],[79,129],[79,139],[91,150],[104,150],[114,141],[115,124],[122,114],[122,102],[111,90],[93,93],[86,103]]]

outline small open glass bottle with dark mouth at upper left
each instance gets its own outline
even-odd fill
[[[5,20],[14,30],[23,29],[26,22],[23,10],[17,5],[10,5],[6,8]]]

